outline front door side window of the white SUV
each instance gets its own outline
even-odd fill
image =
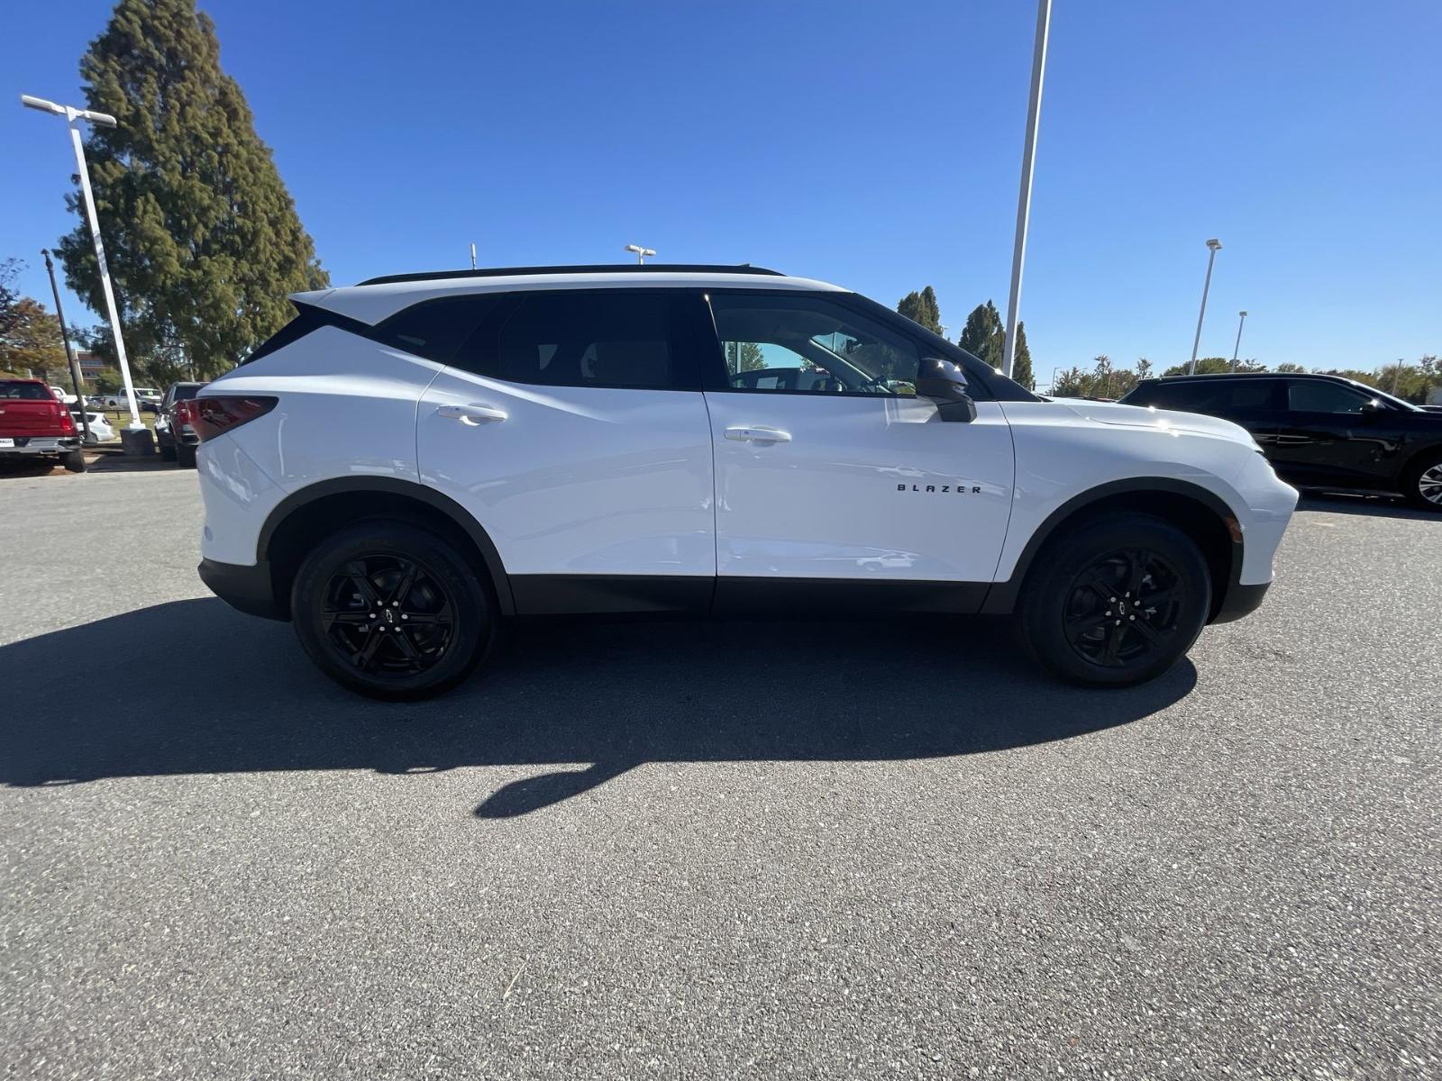
[[[734,391],[916,393],[916,344],[825,297],[714,293],[711,311]]]

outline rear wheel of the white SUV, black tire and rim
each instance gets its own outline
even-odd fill
[[[410,522],[358,522],[322,540],[296,574],[290,610],[316,666],[369,698],[448,690],[496,639],[490,584],[447,539]]]

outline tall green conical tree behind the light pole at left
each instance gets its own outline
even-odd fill
[[[236,82],[195,0],[120,0],[81,59],[88,156],[125,344],[151,378],[213,376],[290,317],[286,294],[329,284]],[[78,196],[69,196],[78,210]],[[102,298],[84,225],[65,277]]]

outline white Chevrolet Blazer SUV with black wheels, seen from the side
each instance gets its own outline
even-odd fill
[[[510,617],[1012,614],[1135,683],[1262,601],[1296,504],[1210,417],[1047,401],[754,267],[375,278],[206,386],[200,577],[420,698]]]

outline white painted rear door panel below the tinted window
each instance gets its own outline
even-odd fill
[[[421,399],[415,435],[421,480],[485,526],[509,574],[715,574],[701,392],[531,386],[447,369]]]

